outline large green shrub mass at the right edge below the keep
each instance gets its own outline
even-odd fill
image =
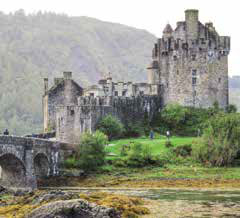
[[[209,120],[202,139],[193,146],[196,160],[212,166],[227,166],[240,151],[240,114],[219,114]]]

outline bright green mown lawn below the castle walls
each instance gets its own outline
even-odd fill
[[[171,143],[174,147],[184,144],[191,144],[193,140],[196,138],[194,137],[176,137],[173,136],[170,138]],[[111,152],[116,154],[117,156],[120,155],[121,147],[126,144],[130,144],[131,142],[141,142],[142,144],[147,144],[150,146],[152,154],[158,155],[163,152],[166,152],[168,148],[165,146],[165,142],[167,141],[165,136],[156,135],[155,139],[151,140],[147,137],[141,138],[129,138],[129,139],[120,139],[116,141],[111,141],[109,144],[111,146],[106,147],[107,152]]]

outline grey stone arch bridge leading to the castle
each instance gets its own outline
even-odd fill
[[[0,136],[0,185],[37,188],[37,179],[55,176],[71,146],[29,137]]]

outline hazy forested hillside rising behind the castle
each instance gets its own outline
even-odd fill
[[[43,77],[86,86],[103,73],[143,81],[156,38],[144,30],[54,13],[0,13],[0,132],[41,131]]]

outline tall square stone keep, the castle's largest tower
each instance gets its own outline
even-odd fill
[[[202,24],[198,10],[186,10],[185,21],[168,24],[154,44],[148,83],[160,87],[163,104],[211,107],[228,105],[230,37],[220,36],[213,23]],[[152,89],[152,95],[156,89]]]

